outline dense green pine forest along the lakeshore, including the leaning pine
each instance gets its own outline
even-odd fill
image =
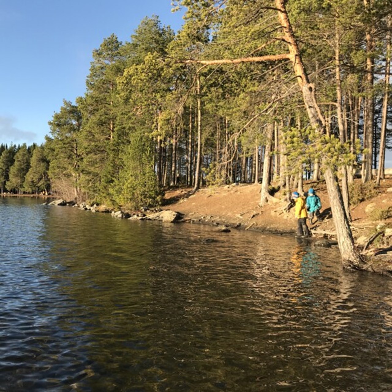
[[[357,265],[349,187],[392,148],[390,0],[181,0],[175,33],[144,18],[93,50],[85,94],[43,145],[0,146],[2,192],[128,209],[167,187],[325,180],[344,260]],[[354,261],[353,261],[354,260]]]

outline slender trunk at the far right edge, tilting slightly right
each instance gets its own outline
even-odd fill
[[[388,18],[388,27],[391,25],[391,17]],[[381,121],[381,140],[380,140],[380,157],[378,161],[378,171],[376,185],[380,185],[381,178],[384,178],[385,169],[385,137],[387,132],[387,116],[388,116],[388,89],[389,89],[389,72],[391,62],[391,37],[387,35],[387,58],[385,60],[385,93],[383,101],[383,118]]]

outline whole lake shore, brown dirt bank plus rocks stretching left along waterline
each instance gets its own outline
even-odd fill
[[[320,243],[324,245],[335,244],[335,228],[325,184],[308,181],[304,184],[304,190],[307,190],[307,187],[316,189],[323,204],[320,220],[310,226],[312,238],[322,240]],[[110,213],[114,218],[120,219],[212,225],[222,232],[236,229],[294,234],[296,219],[293,209],[285,211],[287,200],[284,192],[274,194],[262,208],[258,204],[259,198],[259,184],[232,184],[203,188],[194,193],[187,188],[170,189],[165,192],[161,208],[143,208],[132,212],[114,211],[103,205],[77,204],[65,200],[54,200],[49,204],[71,205],[86,211]],[[388,211],[389,207],[390,215],[386,214],[384,219],[375,219],[375,211]],[[360,249],[374,253],[377,251],[375,244],[381,243],[383,250],[389,244],[392,245],[392,179],[383,180],[372,198],[354,205],[351,215],[353,236]],[[377,237],[372,240],[374,235]]]

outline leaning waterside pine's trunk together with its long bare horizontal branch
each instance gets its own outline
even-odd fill
[[[274,6],[272,7],[270,2],[267,3],[269,4],[266,5],[266,2],[261,1],[258,8],[272,9],[277,12],[279,25],[283,30],[283,36],[280,37],[279,41],[285,42],[289,49],[289,53],[224,60],[186,60],[185,62],[197,62],[203,65],[217,65],[240,64],[242,62],[271,62],[279,60],[290,60],[299,87],[301,89],[302,98],[305,104],[307,116],[309,117],[310,125],[316,134],[316,139],[318,140],[319,146],[321,146],[321,149],[328,149],[330,152],[335,150],[336,152],[341,153],[341,149],[343,147],[341,144],[339,144],[339,140],[334,136],[327,137],[325,135],[325,118],[321,113],[319,105],[316,101],[315,86],[309,81],[309,77],[307,75],[301,53],[299,51],[298,42],[290,24],[289,14],[286,8],[287,0],[274,0]],[[236,2],[234,1],[233,4],[235,5]],[[191,11],[192,7],[194,7],[194,10],[200,12],[200,9],[194,4],[193,1],[184,1],[182,2],[182,5],[186,5]],[[226,0],[211,1],[210,7],[208,7],[206,3],[205,15],[207,16],[203,18],[203,23],[206,23],[208,17],[210,17],[214,11],[219,10],[223,5],[225,5],[226,8],[230,7],[230,3]],[[189,12],[189,15],[191,15],[191,17],[194,16],[192,12]],[[332,152],[332,156],[333,155],[334,154]],[[345,212],[341,189],[339,187],[338,178],[336,176],[336,162],[333,159],[323,159],[322,164],[343,267],[347,269],[371,269],[371,265],[365,262],[365,260],[361,257],[361,254],[359,254],[358,249],[356,249],[354,245],[354,239],[350,229],[347,214]]]

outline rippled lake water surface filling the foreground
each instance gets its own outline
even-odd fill
[[[392,390],[392,281],[336,249],[40,203],[0,200],[0,390]]]

